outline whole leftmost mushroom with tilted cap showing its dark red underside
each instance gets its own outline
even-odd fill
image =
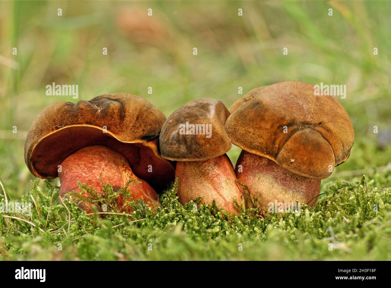
[[[159,205],[155,191],[165,189],[175,173],[158,151],[164,121],[163,112],[132,94],[104,94],[76,104],[56,102],[32,123],[25,162],[35,176],[58,175],[61,197],[70,191],[81,193],[77,182],[93,185],[102,195],[102,181],[116,191],[134,179],[142,184],[129,184],[133,198]],[[90,203],[79,205],[91,211]]]

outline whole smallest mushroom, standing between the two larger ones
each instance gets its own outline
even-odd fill
[[[239,212],[234,203],[243,200],[233,165],[226,155],[231,148],[224,131],[230,112],[221,101],[195,99],[173,112],[161,128],[159,142],[163,158],[177,161],[178,197],[181,203],[202,196],[201,203],[229,213]]]

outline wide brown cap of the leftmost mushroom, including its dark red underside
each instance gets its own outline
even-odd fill
[[[66,157],[86,146],[104,145],[124,155],[138,177],[154,189],[162,189],[175,173],[158,151],[165,119],[149,101],[126,93],[104,94],[76,104],[56,102],[32,123],[25,142],[25,162],[32,174],[55,178],[57,166]],[[152,173],[148,165],[152,165]]]

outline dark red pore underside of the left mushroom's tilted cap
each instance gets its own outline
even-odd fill
[[[157,141],[154,140],[154,141]],[[140,143],[139,143],[140,142]],[[33,148],[27,166],[36,176],[57,177],[58,165],[66,157],[87,146],[103,145],[123,155],[132,171],[160,192],[174,180],[174,167],[155,155],[153,141],[125,143],[117,140],[102,128],[80,125],[61,128],[41,139]],[[157,146],[156,146],[157,151]]]

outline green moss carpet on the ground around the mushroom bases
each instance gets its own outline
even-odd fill
[[[391,172],[357,180],[323,184],[325,194],[314,207],[302,203],[300,215],[248,209],[230,216],[214,204],[195,209],[200,198],[181,205],[175,183],[156,211],[131,202],[132,217],[99,218],[72,197],[59,204],[58,188],[48,181],[39,187],[37,179],[24,197],[32,195],[39,207],[28,219],[36,226],[0,217],[0,259],[389,260],[391,189],[382,187]],[[119,212],[112,205],[118,192],[109,185],[105,192],[109,200],[99,205]]]

